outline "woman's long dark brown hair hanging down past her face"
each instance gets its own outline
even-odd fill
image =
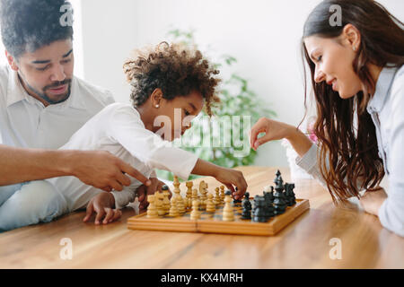
[[[329,22],[335,13],[330,12],[331,5],[341,8],[340,26],[333,26]],[[352,65],[365,89],[355,97],[343,100],[324,81],[315,83],[315,65],[303,40],[310,36],[337,38],[349,23],[361,34],[361,44]],[[358,192],[361,189],[372,190],[384,176],[375,127],[372,118],[365,111],[372,97],[369,92],[375,90],[368,65],[400,67],[404,64],[403,23],[382,4],[373,0],[325,0],[314,8],[305,22],[303,40],[303,58],[311,70],[316,100],[317,119],[314,132],[320,143],[321,174],[334,202],[345,201],[351,196],[359,197]],[[304,83],[307,84],[305,72]],[[305,104],[306,100],[307,86]]]

